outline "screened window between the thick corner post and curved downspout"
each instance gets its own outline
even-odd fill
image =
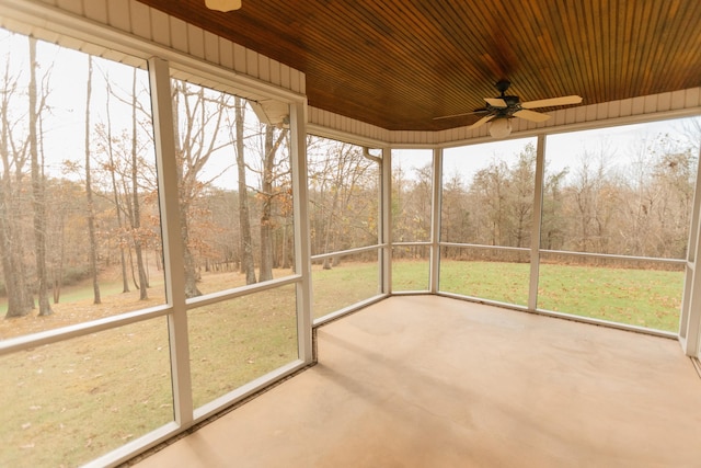
[[[319,318],[380,292],[380,151],[309,136],[307,167],[313,311]]]

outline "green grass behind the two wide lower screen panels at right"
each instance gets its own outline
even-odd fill
[[[527,305],[530,265],[441,261],[441,292]],[[541,264],[538,308],[678,332],[683,273]]]

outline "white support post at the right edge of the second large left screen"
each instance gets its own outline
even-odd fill
[[[311,363],[312,344],[312,284],[311,240],[309,235],[307,184],[307,127],[304,104],[289,106],[290,158],[292,164],[292,210],[295,219],[295,272],[301,275],[297,283],[297,352],[304,363]]]

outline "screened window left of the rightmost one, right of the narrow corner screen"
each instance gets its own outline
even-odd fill
[[[532,138],[444,151],[440,290],[528,304],[536,153]]]

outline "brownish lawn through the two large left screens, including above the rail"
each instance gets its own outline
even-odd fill
[[[202,288],[243,284],[238,273],[220,273],[206,275]],[[149,288],[147,301],[114,284],[101,290],[101,305],[85,285],[64,295],[73,301],[55,305],[50,317],[0,320],[0,336],[137,310],[164,297],[162,284]],[[294,285],[191,310],[195,408],[296,359],[296,323]],[[164,317],[7,355],[0,366],[0,467],[79,466],[173,421]]]

